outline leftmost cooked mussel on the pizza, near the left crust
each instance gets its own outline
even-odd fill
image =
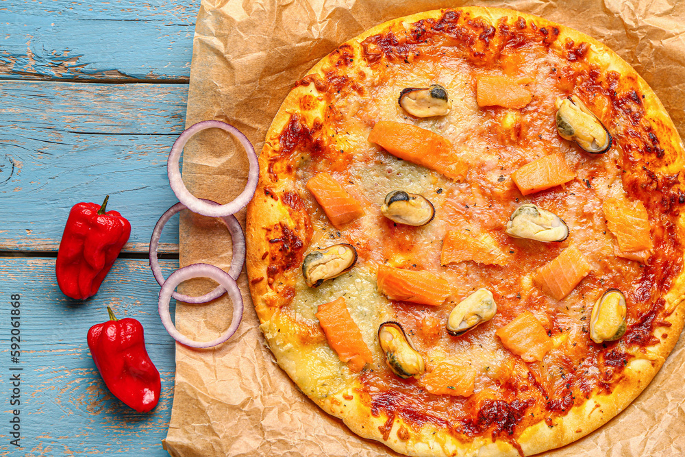
[[[357,262],[357,251],[347,243],[315,249],[302,262],[302,275],[310,287],[349,271]]]

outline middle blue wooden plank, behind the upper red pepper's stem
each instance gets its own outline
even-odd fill
[[[177,199],[166,158],[183,131],[187,86],[0,82],[0,250],[55,250],[71,206],[100,203],[132,224],[125,251],[147,251]],[[160,251],[177,252],[178,218]]]

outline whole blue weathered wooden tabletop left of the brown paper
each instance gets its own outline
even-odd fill
[[[177,201],[166,156],[184,127],[198,9],[199,0],[0,2],[0,456],[168,455],[174,343],[147,249]],[[73,204],[105,195],[131,238],[99,293],[75,301],[55,280],[62,230]],[[177,218],[160,257],[166,275],[177,268]],[[162,375],[148,414],[112,397],[90,358],[86,333],[108,305],[145,328]]]

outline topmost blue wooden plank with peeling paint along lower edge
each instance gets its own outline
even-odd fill
[[[188,82],[199,0],[0,3],[0,77]]]

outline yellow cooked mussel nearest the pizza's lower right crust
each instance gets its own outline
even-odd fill
[[[590,314],[590,338],[597,344],[621,338],[625,334],[626,315],[623,293],[616,288],[608,289],[599,297]]]

